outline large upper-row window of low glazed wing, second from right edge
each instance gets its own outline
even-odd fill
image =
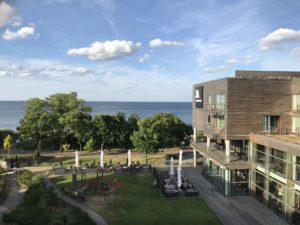
[[[270,171],[285,177],[286,175],[286,153],[277,149],[271,149]]]

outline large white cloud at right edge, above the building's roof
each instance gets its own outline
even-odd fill
[[[259,40],[259,48],[261,50],[268,50],[276,44],[299,39],[300,31],[288,28],[279,28],[278,30],[275,30],[272,33],[269,33],[267,36],[261,38]]]

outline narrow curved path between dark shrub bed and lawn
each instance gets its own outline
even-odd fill
[[[72,198],[69,198],[68,196],[64,195],[63,193],[61,193],[56,186],[54,186],[54,184],[51,182],[51,180],[49,180],[48,177],[44,177],[44,181],[45,184],[48,188],[52,187],[54,193],[56,194],[56,196],[58,198],[60,198],[61,200],[63,200],[64,202],[66,202],[67,204],[77,207],[79,209],[81,209],[81,211],[85,212],[86,214],[89,215],[89,217],[97,224],[97,225],[108,225],[107,222],[98,214],[96,213],[94,210],[88,208],[87,206],[75,201]]]

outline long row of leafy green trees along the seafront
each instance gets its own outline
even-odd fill
[[[190,125],[172,113],[141,119],[137,114],[126,118],[124,113],[92,116],[91,112],[75,92],[30,99],[17,127],[20,142],[32,149],[134,147],[152,152],[179,146],[192,132]]]

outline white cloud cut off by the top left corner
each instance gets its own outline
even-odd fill
[[[0,27],[9,23],[17,23],[20,18],[15,9],[5,1],[0,1]]]

